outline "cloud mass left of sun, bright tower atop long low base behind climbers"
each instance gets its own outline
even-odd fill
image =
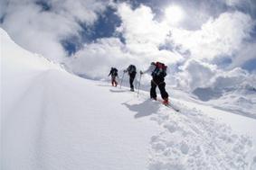
[[[75,73],[104,78],[110,66],[124,69],[133,63],[143,70],[152,61],[171,66],[184,60],[177,52],[159,49],[165,43],[168,30],[154,20],[149,7],[141,5],[133,10],[128,4],[119,4],[117,8],[122,21],[117,32],[125,38],[125,43],[118,38],[103,38],[86,44],[69,62]]]

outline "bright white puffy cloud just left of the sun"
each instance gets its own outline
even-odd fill
[[[119,4],[118,14],[122,20],[118,31],[126,39],[128,49],[150,53],[164,43],[168,30],[154,20],[155,14],[145,5],[132,10],[128,4]]]

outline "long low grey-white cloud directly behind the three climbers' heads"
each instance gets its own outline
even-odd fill
[[[175,61],[166,58],[181,58],[177,56],[178,54],[167,50],[156,50],[148,55],[136,54],[130,51],[119,39],[105,38],[85,45],[71,59],[68,59],[67,63],[74,73],[99,79],[107,77],[110,67],[123,70],[129,64],[134,64],[137,66],[137,70],[145,70],[152,61],[156,60],[166,60],[165,63],[171,65]]]

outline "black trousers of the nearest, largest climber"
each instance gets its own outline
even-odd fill
[[[158,86],[160,90],[161,97],[163,99],[168,98],[168,94],[166,92],[166,83],[165,78],[162,77],[153,77],[151,80],[151,89],[150,89],[150,97],[156,99],[156,86]]]

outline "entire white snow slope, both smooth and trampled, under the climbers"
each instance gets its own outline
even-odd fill
[[[175,112],[0,32],[2,169],[256,169],[255,119],[181,99]]]

